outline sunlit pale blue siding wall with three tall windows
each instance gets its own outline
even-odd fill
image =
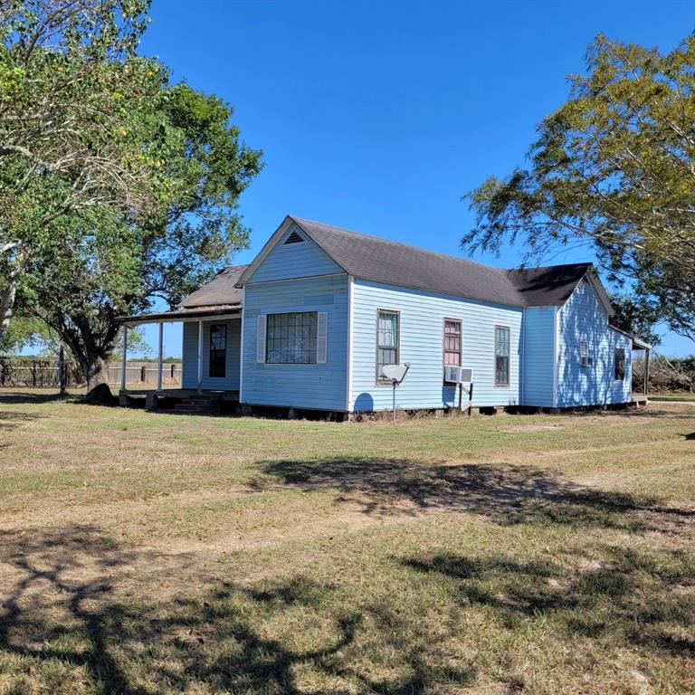
[[[522,309],[356,279],[352,294],[350,410],[383,410],[392,405],[391,386],[376,386],[377,309],[400,311],[400,363],[411,363],[404,383],[396,389],[397,407],[458,405],[457,388],[443,385],[445,318],[462,320],[463,367],[473,370],[474,405],[519,405]],[[508,387],[494,386],[496,325],[510,328]]]

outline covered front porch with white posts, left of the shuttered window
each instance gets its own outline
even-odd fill
[[[123,332],[119,405],[174,413],[233,412],[241,378],[241,305],[176,309],[119,319]],[[165,386],[164,325],[182,324],[181,383]],[[155,388],[129,388],[126,382],[128,329],[157,325]]]

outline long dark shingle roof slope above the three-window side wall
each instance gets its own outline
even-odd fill
[[[290,217],[350,275],[519,307],[561,306],[591,263],[508,271]]]

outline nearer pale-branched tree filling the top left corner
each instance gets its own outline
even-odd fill
[[[158,67],[134,51],[148,0],[0,0],[0,345],[62,215],[142,214],[162,188],[141,117]]]

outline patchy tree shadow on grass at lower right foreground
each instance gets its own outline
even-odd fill
[[[645,652],[695,656],[692,558],[675,550],[598,550],[601,561],[586,563],[585,557],[574,557],[569,566],[547,559],[519,562],[501,555],[453,553],[405,557],[400,562],[435,581],[447,581],[461,605],[490,607],[509,629],[525,618],[542,618],[572,635],[610,635]]]

